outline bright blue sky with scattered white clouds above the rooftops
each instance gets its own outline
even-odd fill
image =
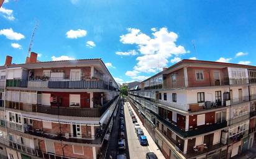
[[[0,64],[102,58],[117,82],[143,80],[181,59],[255,65],[256,1],[14,1],[0,9]],[[192,42],[194,41],[194,42]],[[194,49],[196,46],[196,50]]]

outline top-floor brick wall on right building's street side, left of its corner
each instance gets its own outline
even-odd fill
[[[176,82],[171,81],[171,74],[176,74]],[[184,69],[179,69],[175,72],[171,72],[170,74],[167,74],[166,79],[166,87],[167,88],[178,88],[178,87],[184,87]]]

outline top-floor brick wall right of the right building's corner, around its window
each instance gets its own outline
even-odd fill
[[[202,70],[204,79],[203,80],[196,80],[196,71]],[[214,71],[220,72],[221,80],[224,79],[225,69],[218,69],[218,68],[205,68],[205,67],[188,67],[188,86],[189,87],[199,87],[199,86],[209,86],[214,85]],[[223,82],[223,81],[221,81]]]

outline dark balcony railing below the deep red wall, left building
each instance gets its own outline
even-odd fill
[[[116,101],[119,96],[108,101],[100,108],[73,108],[64,106],[43,106],[37,105],[37,113],[61,115],[61,116],[78,116],[88,118],[100,118],[101,115]]]

